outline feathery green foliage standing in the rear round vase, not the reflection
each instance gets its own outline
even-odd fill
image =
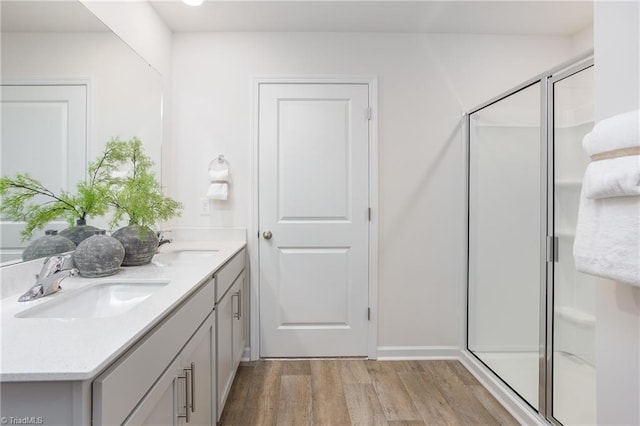
[[[153,162],[145,155],[138,138],[107,142],[106,161],[114,170],[126,169],[125,176],[113,177],[107,194],[114,207],[111,226],[117,227],[125,217],[129,225],[152,227],[160,221],[179,216],[182,204],[162,194],[162,186],[155,179]]]

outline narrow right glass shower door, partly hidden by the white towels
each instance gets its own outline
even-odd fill
[[[553,417],[564,425],[596,424],[595,282],[575,269],[573,238],[593,128],[593,67],[550,82],[553,103]]]

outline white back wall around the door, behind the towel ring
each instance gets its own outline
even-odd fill
[[[249,225],[251,77],[379,78],[379,346],[459,345],[463,111],[571,56],[560,37],[175,34],[172,195],[185,227]],[[227,203],[199,215],[207,166],[231,164]]]

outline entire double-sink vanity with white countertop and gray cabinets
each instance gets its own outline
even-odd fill
[[[215,424],[246,341],[244,246],[171,244],[150,265],[70,278],[33,302],[5,297],[2,417]]]

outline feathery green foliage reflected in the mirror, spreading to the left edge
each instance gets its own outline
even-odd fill
[[[89,164],[88,180],[76,184],[75,194],[64,190],[56,193],[28,173],[3,176],[0,178],[0,213],[10,220],[26,223],[21,232],[23,240],[58,218],[73,225],[75,220],[104,215],[109,207],[105,194],[113,172],[113,165],[106,161],[109,156],[105,150],[96,162]],[[39,202],[41,198],[46,201]]]

